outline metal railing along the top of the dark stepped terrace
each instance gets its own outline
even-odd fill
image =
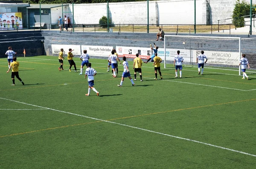
[[[49,23],[33,23],[33,24],[26,24],[26,25],[19,25],[17,29],[1,29],[0,31],[10,31],[16,30],[20,31],[23,30],[58,30],[60,28],[58,24],[49,24]],[[250,26],[250,25],[245,25]],[[218,34],[218,32],[226,32],[227,34],[231,34],[231,30],[236,30],[236,26],[233,24],[214,24],[214,25],[189,25],[189,24],[159,24],[159,25],[149,25],[149,32],[156,33],[158,28],[161,28],[166,33],[188,33],[193,34],[195,33],[207,33],[207,34]],[[68,27],[69,32],[137,32],[137,33],[147,33],[148,25],[147,24],[111,24],[108,26],[100,25],[100,24],[70,24]],[[247,34],[249,31],[248,28],[244,28],[244,34]],[[64,25],[62,26],[61,31],[65,31]],[[60,32],[61,32],[60,31]],[[240,33],[240,32],[239,32]]]

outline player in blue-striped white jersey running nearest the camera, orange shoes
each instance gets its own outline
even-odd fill
[[[97,74],[96,70],[94,70],[93,68],[91,68],[92,63],[88,63],[88,68],[85,70],[85,77],[86,78],[88,76],[88,84],[89,84],[89,88],[88,88],[88,93],[85,94],[86,96],[90,96],[90,89],[93,89],[94,92],[97,93],[97,96],[99,96],[99,92],[93,87],[94,86],[94,76]]]

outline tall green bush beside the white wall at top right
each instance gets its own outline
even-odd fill
[[[235,8],[233,10],[232,22],[237,28],[244,27],[244,17],[250,15],[250,4],[242,0],[236,1]]]

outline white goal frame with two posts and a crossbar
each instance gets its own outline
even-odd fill
[[[195,37],[195,38],[214,38],[214,39],[237,39],[239,40],[239,59],[241,59],[241,37],[218,37],[218,36],[191,36],[191,35],[164,35],[164,68],[166,68],[166,37]],[[169,48],[172,49],[172,48]],[[190,54],[192,53],[192,49],[190,50]],[[191,56],[190,56],[191,57]],[[241,66],[239,66],[239,75],[241,75]]]

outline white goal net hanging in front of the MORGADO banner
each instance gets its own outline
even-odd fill
[[[239,71],[239,60],[241,54],[246,54],[251,69],[247,72],[256,72],[255,67],[255,42],[256,38],[241,37],[207,37],[207,36],[179,36],[165,35],[164,37],[164,65],[172,63],[177,50],[183,57],[184,66],[198,66],[196,57],[201,50],[207,56],[208,61],[204,66],[212,69],[228,69]],[[247,43],[250,43],[248,46]],[[253,46],[254,44],[254,46]]]

